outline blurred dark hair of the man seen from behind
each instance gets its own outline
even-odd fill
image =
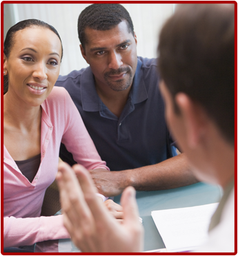
[[[235,140],[234,5],[178,8],[159,37],[159,72],[170,93],[199,103],[224,138]],[[175,112],[178,107],[175,104]],[[178,111],[177,111],[178,113]]]

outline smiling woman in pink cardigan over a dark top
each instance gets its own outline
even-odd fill
[[[62,54],[59,34],[43,21],[21,21],[6,35],[4,248],[69,237],[62,215],[40,216],[45,191],[57,175],[61,141],[86,169],[108,169],[68,92],[54,87]]]

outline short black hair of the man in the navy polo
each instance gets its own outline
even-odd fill
[[[85,29],[110,30],[126,21],[128,32],[134,35],[134,28],[130,14],[119,3],[95,3],[85,8],[78,19],[78,34],[81,45],[85,49],[87,43]]]

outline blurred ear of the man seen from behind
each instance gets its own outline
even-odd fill
[[[178,93],[175,96],[181,115],[184,120],[188,146],[195,148],[199,146],[201,140],[204,140],[206,131],[207,115],[204,108],[184,93]]]

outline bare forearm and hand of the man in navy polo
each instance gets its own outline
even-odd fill
[[[184,153],[159,164],[137,169],[110,172],[90,170],[90,173],[99,193],[106,196],[119,195],[127,186],[152,191],[175,189],[198,182],[188,167]]]

